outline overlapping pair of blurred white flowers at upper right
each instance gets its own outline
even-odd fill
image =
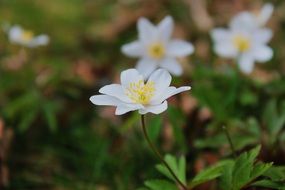
[[[272,13],[273,6],[266,4],[257,14],[239,13],[228,29],[214,29],[211,32],[214,51],[221,57],[235,59],[244,73],[252,72],[255,61],[269,61],[273,50],[267,44],[272,38],[272,31],[265,24]]]

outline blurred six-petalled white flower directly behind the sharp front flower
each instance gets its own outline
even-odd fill
[[[136,69],[145,78],[158,67],[173,75],[181,75],[182,68],[176,58],[192,54],[194,47],[189,42],[171,39],[174,28],[172,17],[165,17],[157,26],[140,18],[137,28],[139,39],[122,47],[124,54],[140,58]]]

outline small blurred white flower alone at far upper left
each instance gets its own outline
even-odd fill
[[[10,42],[29,48],[44,46],[49,43],[49,37],[47,35],[41,34],[35,36],[32,31],[24,30],[18,25],[9,29],[8,37]]]

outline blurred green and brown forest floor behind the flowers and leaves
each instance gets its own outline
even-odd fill
[[[274,58],[244,75],[214,54],[209,32],[265,2],[275,6]],[[138,18],[158,23],[166,15],[173,36],[195,45],[173,81],[192,90],[147,115],[152,140],[186,155],[190,177],[230,154],[222,125],[239,151],[262,144],[261,160],[285,164],[283,0],[0,0],[0,189],[132,190],[159,176],[138,113],[115,116],[89,97],[134,67],[120,47],[137,38]],[[50,44],[11,44],[5,27],[14,24],[48,34]]]

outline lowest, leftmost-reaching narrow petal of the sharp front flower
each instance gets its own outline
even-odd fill
[[[117,98],[108,95],[95,95],[89,99],[95,105],[104,106],[117,106],[121,104],[121,101]]]

